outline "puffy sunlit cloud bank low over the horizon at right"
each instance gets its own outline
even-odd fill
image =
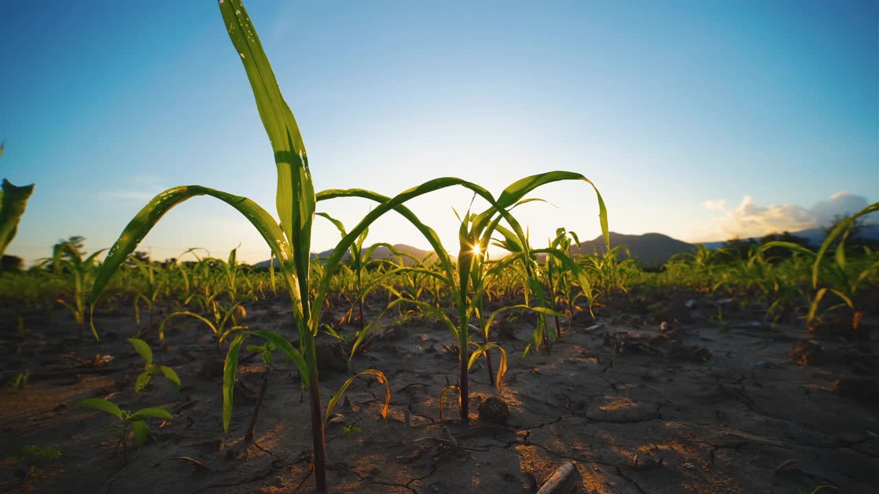
[[[709,206],[710,204],[710,206]],[[799,231],[825,227],[837,216],[854,214],[867,206],[867,200],[852,193],[834,193],[829,200],[817,202],[813,207],[796,204],[760,206],[746,195],[735,209],[717,216],[709,225],[704,237],[727,239],[764,236],[782,231]],[[708,209],[720,209],[717,201],[704,203]]]

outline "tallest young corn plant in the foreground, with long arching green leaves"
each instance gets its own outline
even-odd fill
[[[320,288],[315,294],[316,301],[313,304],[309,303],[311,226],[315,215],[316,195],[309,171],[308,155],[302,142],[299,127],[289,106],[281,96],[271,65],[265,56],[243,3],[240,0],[221,0],[220,11],[229,38],[251,82],[259,116],[274,152],[278,171],[276,206],[280,222],[256,202],[241,196],[201,185],[183,185],[171,188],[149,201],[149,204],[143,207],[128,223],[119,240],[113,244],[98,272],[91,302],[93,306],[98,301],[113,273],[117,271],[128,255],[134,252],[143,237],[156,225],[163,214],[172,207],[195,196],[208,195],[222,200],[243,214],[268,244],[272,256],[279,260],[281,276],[287,284],[294,310],[294,322],[299,333],[300,349],[296,350],[289,342],[287,345],[283,345],[281,341],[287,340],[272,331],[253,331],[247,335],[239,335],[236,341],[230,345],[227,355],[226,374],[231,373],[233,379],[224,379],[223,393],[224,396],[231,393],[229,382],[234,383],[237,347],[240,346],[240,341],[244,336],[251,334],[261,336],[287,352],[287,356],[296,364],[301,381],[309,389],[315,478],[317,488],[325,490],[324,420],[317,375],[315,335],[319,325],[321,304],[325,298],[329,280],[345,251],[356,241],[362,231],[367,229],[368,225],[381,214],[400,207],[405,200],[439,188],[457,185],[463,181],[460,179],[434,180],[410,189],[410,191],[396,196],[395,200],[389,200],[381,207],[374,209],[360,222],[358,228],[352,230],[342,242],[338,243],[333,252],[335,261],[331,260],[331,266],[328,266],[326,274],[320,280]],[[407,216],[407,213],[410,214],[408,210],[405,210],[403,215]],[[414,219],[414,216],[412,218]],[[97,332],[95,336],[97,338]],[[236,345],[236,342],[239,343]],[[374,375],[380,381],[386,382],[384,376],[378,371],[369,370],[366,372]],[[347,386],[343,387],[343,391],[346,388]],[[331,405],[334,405],[336,400],[338,400],[338,395],[331,400]]]

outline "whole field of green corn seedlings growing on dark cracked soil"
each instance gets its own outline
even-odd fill
[[[219,4],[272,144],[276,214],[178,186],[105,251],[71,239],[0,272],[4,491],[879,490],[879,251],[853,233],[879,203],[818,249],[699,245],[644,267],[610,244],[613,205],[578,172],[498,195],[447,177],[395,196],[316,193],[243,4]],[[605,252],[575,253],[570,225],[536,243],[517,221],[560,181],[595,198]],[[406,206],[449,187],[488,205],[461,212],[454,252]],[[22,189],[4,182],[4,248]],[[135,255],[202,195],[243,214],[272,262]],[[346,225],[322,212],[338,198],[372,209]],[[385,214],[432,252],[367,243]],[[314,222],[338,229],[327,257],[311,253]]]

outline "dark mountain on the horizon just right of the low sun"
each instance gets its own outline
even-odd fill
[[[642,265],[663,265],[669,258],[681,252],[694,252],[696,248],[691,243],[682,242],[671,236],[661,233],[645,233],[643,235],[625,235],[610,232],[611,249],[617,245],[628,247],[632,258],[636,258]],[[571,247],[571,254],[604,254],[607,252],[604,239],[596,236],[593,240],[581,242],[580,247]],[[625,253],[619,254],[620,258]]]

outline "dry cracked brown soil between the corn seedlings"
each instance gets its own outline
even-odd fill
[[[340,403],[341,418],[327,428],[331,492],[533,493],[563,461],[578,468],[581,478],[571,490],[578,492],[795,493],[820,484],[836,485],[835,492],[879,491],[879,341],[854,345],[825,338],[822,350],[799,356],[809,361],[801,365],[791,361],[791,351],[809,336],[802,323],[772,329],[754,325],[761,316],[747,311],[721,323],[708,318],[717,301],[704,296],[686,311],[680,299],[664,303],[657,314],[641,315],[631,304],[612,304],[600,312],[599,327],[575,321],[548,353],[532,352],[521,362],[533,323],[504,323],[500,342],[511,357],[505,424],[477,418],[479,403],[495,395],[484,360],[470,374],[469,425],[450,420],[457,414],[454,398],[440,421],[439,391],[454,384],[457,374],[456,356],[443,346],[454,345],[452,335],[427,321],[389,324],[349,369],[375,367],[388,376],[389,418],[380,416],[380,384],[363,379],[352,385],[350,403]],[[287,302],[248,310],[251,328],[293,334]],[[251,418],[248,390],[259,387],[258,359],[239,370],[243,386],[224,437],[222,364],[214,363],[213,335],[205,326],[179,319],[163,344],[150,341],[156,363],[174,367],[183,389],[156,377],[145,396],[135,396],[142,359],[125,340],[136,332],[130,309],[98,317],[103,338],[84,344],[58,343],[76,334],[69,315],[25,312],[35,336],[20,354],[11,337],[14,313],[3,309],[0,318],[9,326],[0,331],[0,377],[5,382],[25,370],[32,376],[25,389],[6,385],[0,391],[0,449],[37,445],[62,456],[40,464],[38,475],[24,482],[14,476],[15,462],[4,459],[3,490],[314,490],[308,397],[303,400],[292,365],[281,363],[272,374],[256,444],[243,457],[236,443]],[[663,331],[659,323],[666,318]],[[97,353],[113,360],[90,367]],[[338,368],[321,374],[324,407],[350,375],[338,372],[344,360],[327,361]],[[839,377],[844,381],[837,386]],[[152,439],[129,451],[126,464],[107,432],[115,418],[73,406],[92,396],[130,410],[163,406],[175,419],[151,420]],[[362,432],[343,435],[344,424]]]

